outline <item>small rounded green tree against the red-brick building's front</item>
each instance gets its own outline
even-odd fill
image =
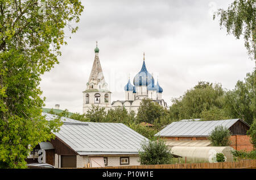
[[[218,125],[210,132],[209,140],[213,146],[229,146],[230,145],[230,131],[229,129]]]

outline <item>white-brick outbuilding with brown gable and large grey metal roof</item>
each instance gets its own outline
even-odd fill
[[[55,115],[43,113],[47,120]],[[36,162],[44,149],[46,163],[56,168],[139,165],[139,149],[146,137],[122,123],[93,123],[62,117],[55,139],[40,143],[27,158]],[[147,140],[147,139],[146,139]]]

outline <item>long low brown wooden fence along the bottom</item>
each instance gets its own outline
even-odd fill
[[[139,166],[110,166],[100,169],[234,169],[256,168],[256,160],[241,160],[238,162],[195,163],[195,164],[167,164],[167,165],[139,165]],[[97,169],[97,168],[91,168]]]

